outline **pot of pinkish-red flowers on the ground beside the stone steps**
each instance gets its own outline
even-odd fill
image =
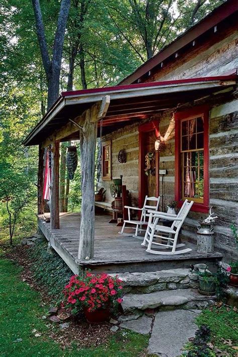
[[[82,278],[72,276],[63,294],[66,307],[71,308],[73,314],[83,312],[88,322],[98,323],[107,320],[110,310],[121,304],[122,289],[118,277],[87,271]]]

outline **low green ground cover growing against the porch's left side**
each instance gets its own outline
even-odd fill
[[[69,267],[53,249],[47,249],[45,242],[36,243],[29,254],[34,262],[32,270],[36,281],[47,289],[53,300],[63,298],[62,290],[72,276]]]

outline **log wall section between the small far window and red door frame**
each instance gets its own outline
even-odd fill
[[[126,126],[109,135],[103,136],[102,141],[111,140],[111,171],[112,179],[120,178],[123,175],[123,184],[130,191],[133,205],[138,205],[138,152],[139,152],[139,133],[138,124]],[[127,162],[121,164],[117,156],[123,149],[127,154]],[[105,201],[111,202],[113,198],[110,195],[111,181],[103,181],[100,177],[99,188],[106,189]]]

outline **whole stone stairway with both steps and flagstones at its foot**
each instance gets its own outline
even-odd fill
[[[195,318],[202,308],[215,302],[215,296],[198,293],[198,277],[190,269],[117,276],[123,280],[126,291],[119,327],[150,334],[148,352],[153,355],[181,355],[183,346],[198,328]]]

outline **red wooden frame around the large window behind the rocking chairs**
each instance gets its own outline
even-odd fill
[[[180,138],[181,138],[181,126],[182,119],[189,119],[193,116],[202,115],[204,118],[204,192],[203,203],[194,202],[191,210],[195,212],[208,212],[209,209],[209,106],[199,106],[184,111],[178,111],[175,113],[175,200],[178,207],[181,207],[183,200],[181,199],[182,187],[181,187],[181,153],[180,153]]]

